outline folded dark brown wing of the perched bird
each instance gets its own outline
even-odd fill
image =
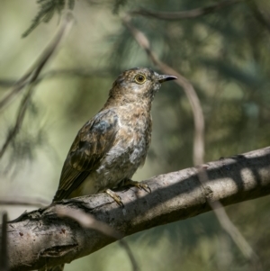
[[[118,116],[112,109],[96,114],[85,123],[69,149],[53,201],[67,198],[83,183],[112,148],[118,129]]]

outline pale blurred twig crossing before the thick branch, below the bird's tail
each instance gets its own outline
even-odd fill
[[[93,215],[89,213],[82,212],[80,210],[66,210],[66,209],[57,209],[58,216],[60,217],[68,217],[75,221],[77,221],[82,227],[86,229],[93,229],[101,232],[103,235],[108,237],[112,237],[113,239],[118,239],[121,247],[127,252],[128,257],[130,258],[130,263],[133,271],[139,271],[139,266],[137,261],[130,250],[128,243],[122,239],[123,234],[118,231],[112,229],[107,223],[103,221],[97,221]]]

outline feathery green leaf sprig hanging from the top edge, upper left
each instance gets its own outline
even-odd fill
[[[66,5],[66,0],[37,0],[40,5],[38,14],[31,22],[31,26],[23,33],[23,38],[28,36],[40,23],[49,23],[55,13],[61,14]],[[67,0],[68,9],[73,9],[75,0]]]

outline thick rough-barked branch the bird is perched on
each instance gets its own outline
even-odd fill
[[[91,213],[127,236],[211,211],[207,201],[229,205],[270,194],[270,148],[221,158],[203,168],[207,173],[203,186],[197,168],[190,167],[146,181],[151,194],[133,187],[118,192],[125,209],[108,195],[96,194],[24,213],[8,224],[11,270],[70,262],[112,243],[108,236],[86,230],[71,219],[59,218],[59,209]]]

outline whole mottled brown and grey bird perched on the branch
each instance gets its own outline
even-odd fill
[[[136,185],[148,189],[131,177],[147,156],[154,95],[160,83],[174,79],[149,68],[131,68],[117,77],[102,110],[78,131],[53,202],[105,192],[122,204],[112,188]]]

